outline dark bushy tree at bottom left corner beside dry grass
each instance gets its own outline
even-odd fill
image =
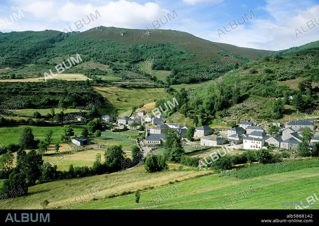
[[[11,173],[9,179],[4,181],[0,193],[6,194],[8,198],[26,195],[28,193],[26,175],[24,173]]]

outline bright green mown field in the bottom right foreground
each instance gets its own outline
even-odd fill
[[[139,204],[134,201],[135,195],[129,194],[101,201],[89,201],[74,208],[295,209],[295,207],[282,207],[281,204],[306,201],[308,196],[318,192],[318,179],[317,168],[247,180],[210,175],[141,192]],[[308,209],[318,208],[318,205],[308,207]]]

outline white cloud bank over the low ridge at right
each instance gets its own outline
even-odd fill
[[[283,14],[280,15],[280,13],[276,12],[278,10],[276,7],[276,4],[266,6],[267,11],[275,19],[253,18],[234,30],[231,30],[230,26],[225,24],[227,30],[231,31],[221,34],[220,38],[217,29],[209,34],[203,34],[202,37],[211,41],[229,43],[240,47],[270,50],[288,49],[293,46],[300,46],[319,40],[319,25],[314,20],[315,18],[319,23],[319,5],[315,5],[307,10],[297,9],[295,10],[295,16],[293,16],[293,13],[286,13],[286,11],[282,11]],[[310,27],[313,28],[309,29],[306,23],[311,20],[315,26],[312,25]],[[308,30],[308,32],[304,33],[300,26],[305,31]],[[223,26],[220,29],[224,30]],[[295,29],[299,29],[304,34],[298,34],[296,37]]]

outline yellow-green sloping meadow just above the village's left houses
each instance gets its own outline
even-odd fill
[[[164,88],[119,88],[119,87],[93,87],[107,99],[111,105],[107,109],[100,109],[99,113],[108,115],[113,109],[118,109],[120,117],[129,116],[132,107],[140,104],[152,103],[161,98],[166,99],[170,94]]]

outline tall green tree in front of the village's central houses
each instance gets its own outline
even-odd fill
[[[184,148],[181,144],[180,134],[170,128],[168,131],[164,132],[165,142],[164,142],[164,156],[168,161],[179,162],[183,154],[185,154]]]

